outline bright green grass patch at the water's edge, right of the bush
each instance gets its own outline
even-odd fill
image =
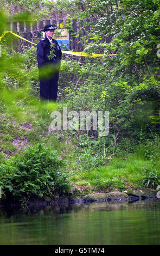
[[[159,161],[153,168],[150,160],[142,153],[125,154],[123,157],[111,157],[105,166],[99,166],[81,174],[81,179],[89,182],[94,190],[108,191],[115,187],[155,188],[159,185]]]

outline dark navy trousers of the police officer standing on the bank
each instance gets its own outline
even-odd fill
[[[40,99],[53,100],[57,99],[59,73],[56,72],[52,77],[40,78]]]

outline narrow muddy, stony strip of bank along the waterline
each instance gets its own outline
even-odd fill
[[[33,206],[33,205],[62,205],[62,204],[79,204],[79,203],[92,203],[92,202],[136,202],[137,200],[145,200],[145,199],[156,199],[157,198],[156,190],[133,190],[133,191],[112,191],[110,193],[105,192],[91,192],[85,195],[80,196],[70,196],[63,198],[44,198],[41,200],[37,200],[35,198],[31,198],[28,202],[20,202],[20,201],[10,201],[10,202],[1,202],[0,208],[3,206],[11,206],[11,208],[19,208],[21,206]]]

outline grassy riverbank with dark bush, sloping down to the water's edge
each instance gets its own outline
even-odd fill
[[[24,204],[27,201],[31,202],[30,194],[37,197],[40,194],[39,202],[41,202],[41,193],[48,197],[49,194],[53,194],[53,196],[70,194],[71,196],[66,200],[69,203],[99,202],[100,200],[130,201],[150,197],[151,188],[156,188],[160,180],[160,161],[157,156],[158,149],[154,148],[155,142],[153,145],[141,143],[130,153],[130,150],[128,152],[119,151],[116,146],[113,150],[111,147],[108,150],[104,138],[94,138],[86,131],[53,132],[49,126],[50,113],[57,107],[61,109],[61,103],[57,106],[48,104],[37,109],[28,107],[28,109],[24,109],[25,114],[22,120],[11,117],[9,112],[1,113],[0,168],[2,179],[0,185],[2,192],[11,192],[12,198],[17,196],[16,191],[22,192],[20,198],[24,197]],[[159,147],[158,140],[156,143],[158,145],[156,147]],[[35,149],[31,149],[32,147]],[[155,158],[152,156],[152,152],[149,154],[151,149],[154,149]],[[26,150],[28,153],[25,154]],[[56,151],[56,155],[54,162],[50,162],[47,171],[50,173],[50,179],[55,166],[59,166],[60,162],[64,164],[61,170],[57,167],[57,175],[53,180],[57,186],[57,180],[62,174],[63,187],[62,180],[59,180],[57,186],[59,191],[55,191],[56,187],[53,182],[48,183],[51,180],[46,178],[45,173],[48,157],[52,151]],[[36,162],[39,167],[36,166]],[[41,170],[44,172],[43,177]],[[67,187],[65,175],[70,180]],[[71,184],[71,190],[69,184]],[[146,189],[147,193],[142,188]],[[67,193],[62,191],[64,189]],[[156,197],[156,191],[154,193],[154,197]],[[63,198],[49,198],[44,201],[58,203],[62,202]]]

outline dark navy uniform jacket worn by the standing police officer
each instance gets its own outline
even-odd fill
[[[46,64],[60,64],[62,52],[58,42],[55,39],[52,39],[54,46],[54,54],[55,56],[52,59],[48,58],[50,56],[50,51],[52,48],[50,47],[50,41],[46,37],[42,39],[39,44],[37,45],[37,63],[38,68],[40,69]]]

